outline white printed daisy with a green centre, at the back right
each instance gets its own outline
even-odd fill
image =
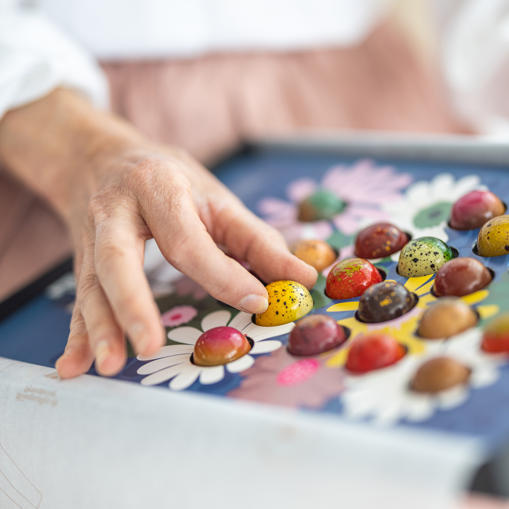
[[[477,175],[467,175],[455,180],[453,175],[441,173],[431,181],[421,180],[410,185],[400,200],[387,200],[382,208],[390,216],[389,222],[408,232],[412,237],[437,237],[447,242],[445,231],[450,209],[462,196],[480,185]],[[399,252],[392,255],[397,261]]]

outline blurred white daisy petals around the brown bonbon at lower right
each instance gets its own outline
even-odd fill
[[[380,425],[394,425],[401,419],[419,422],[433,416],[437,409],[451,409],[467,401],[470,389],[486,387],[498,380],[506,355],[487,354],[480,349],[482,330],[472,328],[444,341],[428,341],[422,355],[406,355],[400,362],[364,375],[347,374],[347,390],[340,399],[345,416],[370,418]],[[467,384],[436,394],[410,388],[419,366],[434,357],[447,356],[471,369]]]

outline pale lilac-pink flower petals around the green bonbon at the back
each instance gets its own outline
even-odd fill
[[[320,182],[310,178],[294,180],[286,189],[290,201],[267,197],[258,203],[258,210],[288,243],[310,238],[325,240],[333,234],[333,225],[345,235],[353,235],[363,225],[387,220],[382,204],[401,199],[401,190],[411,182],[409,174],[363,159],[351,166],[329,168]],[[330,221],[299,221],[299,204],[318,188],[340,197],[346,202],[345,209]]]

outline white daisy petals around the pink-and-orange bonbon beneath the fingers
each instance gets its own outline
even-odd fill
[[[138,355],[138,360],[152,361],[144,364],[137,371],[138,375],[148,375],[142,379],[142,385],[158,385],[171,380],[170,389],[183,390],[190,387],[198,378],[204,385],[220,382],[224,378],[224,369],[230,373],[240,373],[251,367],[254,364],[254,358],[249,354],[268,353],[280,348],[282,343],[270,338],[287,334],[295,326],[294,323],[288,323],[275,327],[260,327],[251,321],[251,314],[242,312],[230,321],[231,317],[231,313],[225,309],[214,311],[203,318],[202,330],[195,327],[177,327],[169,331],[168,338],[179,342],[179,345],[162,347],[150,357]],[[191,354],[198,338],[203,332],[224,325],[236,328],[254,342],[249,353],[220,366],[193,364]]]

